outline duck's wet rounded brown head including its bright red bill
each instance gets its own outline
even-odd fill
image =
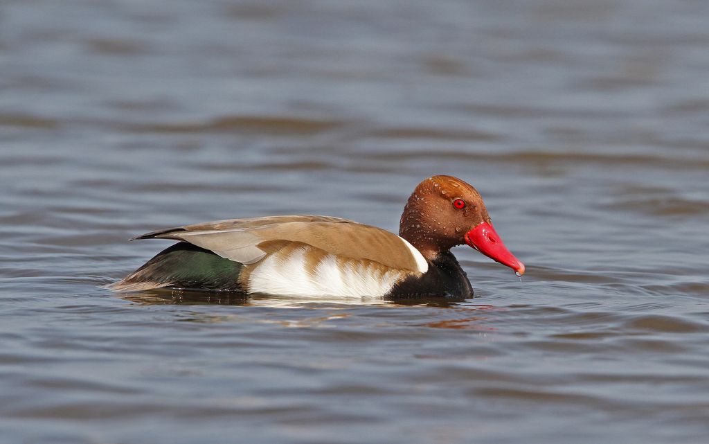
[[[467,244],[518,274],[525,272],[493,228],[480,194],[457,177],[432,176],[418,184],[403,209],[399,235],[428,260]]]

